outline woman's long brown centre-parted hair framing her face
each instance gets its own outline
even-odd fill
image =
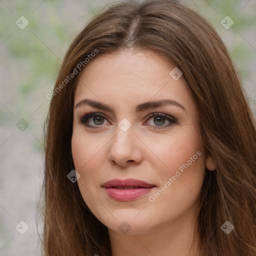
[[[73,98],[84,59],[95,51],[94,58],[127,48],[150,50],[175,63],[191,91],[204,152],[216,162],[214,171],[205,169],[202,186],[196,232],[200,255],[256,255],[255,119],[217,32],[193,10],[170,0],[113,4],[90,20],[66,52],[44,126],[45,255],[111,254],[107,227],[67,174],[74,169]],[[65,80],[74,69],[78,74]],[[234,226],[229,234],[221,230],[225,221]]]

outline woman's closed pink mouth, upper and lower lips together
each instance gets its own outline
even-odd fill
[[[127,188],[133,186],[137,186],[138,188]],[[106,194],[110,198],[117,201],[130,201],[147,194],[153,189],[153,187],[155,187],[155,185],[143,180],[128,178],[124,180],[108,180],[102,185],[102,187],[104,187]]]

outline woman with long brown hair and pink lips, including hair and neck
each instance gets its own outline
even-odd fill
[[[256,255],[256,129],[216,31],[112,5],[66,52],[45,123],[45,255]]]

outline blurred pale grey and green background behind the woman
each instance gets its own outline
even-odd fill
[[[35,219],[40,214],[36,200],[42,182],[42,127],[49,106],[46,95],[53,89],[71,40],[98,10],[113,2],[0,0],[0,255],[40,255]],[[252,96],[256,93],[256,1],[182,3],[217,30],[256,113],[256,95]],[[229,29],[220,23],[225,16],[234,21]],[[26,20],[29,23],[21,29],[16,20],[21,27]],[[20,221],[29,227],[24,234],[18,231],[25,230]]]

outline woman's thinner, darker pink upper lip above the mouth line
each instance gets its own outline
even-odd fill
[[[149,184],[143,180],[127,178],[127,179],[111,179],[106,181],[103,187],[112,187],[112,186],[141,186],[141,187],[152,187],[155,186],[154,184]]]

